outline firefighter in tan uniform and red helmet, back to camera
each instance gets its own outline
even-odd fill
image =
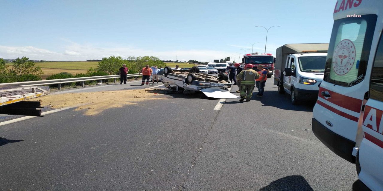
[[[253,94],[253,89],[255,85],[255,80],[259,78],[259,74],[253,70],[252,64],[247,64],[245,70],[242,70],[237,75],[237,80],[241,81],[241,90],[240,102],[243,102],[245,99],[247,102],[250,101],[251,96]]]

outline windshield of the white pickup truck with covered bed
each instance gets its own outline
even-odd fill
[[[326,56],[299,57],[299,68],[303,72],[324,72]]]

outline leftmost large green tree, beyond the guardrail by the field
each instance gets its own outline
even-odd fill
[[[12,61],[13,66],[8,70],[8,74],[13,81],[19,81],[19,78],[25,74],[40,75],[43,70],[39,66],[35,67],[35,63],[27,57],[17,58]]]

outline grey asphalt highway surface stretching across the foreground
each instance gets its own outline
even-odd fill
[[[134,85],[71,91],[149,87]],[[291,105],[270,79],[264,97],[221,110],[163,87],[150,90],[163,100],[97,116],[68,109],[0,126],[0,190],[330,191],[357,180],[311,131],[313,104]]]

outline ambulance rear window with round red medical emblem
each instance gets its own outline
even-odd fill
[[[350,87],[365,78],[376,15],[334,21],[324,81]]]

